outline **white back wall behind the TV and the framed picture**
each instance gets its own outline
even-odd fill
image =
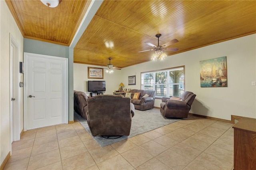
[[[107,65],[107,64],[106,64]],[[114,70],[114,73],[106,73],[104,69],[104,79],[88,79],[88,67],[98,67],[95,65],[86,65],[74,63],[74,90],[84,91],[87,96],[90,95],[88,92],[88,81],[106,81],[106,93],[104,94],[113,94],[113,91],[118,90],[118,86],[121,83],[122,79],[122,70]],[[128,77],[127,77],[128,79]],[[125,87],[126,88],[126,87]]]

